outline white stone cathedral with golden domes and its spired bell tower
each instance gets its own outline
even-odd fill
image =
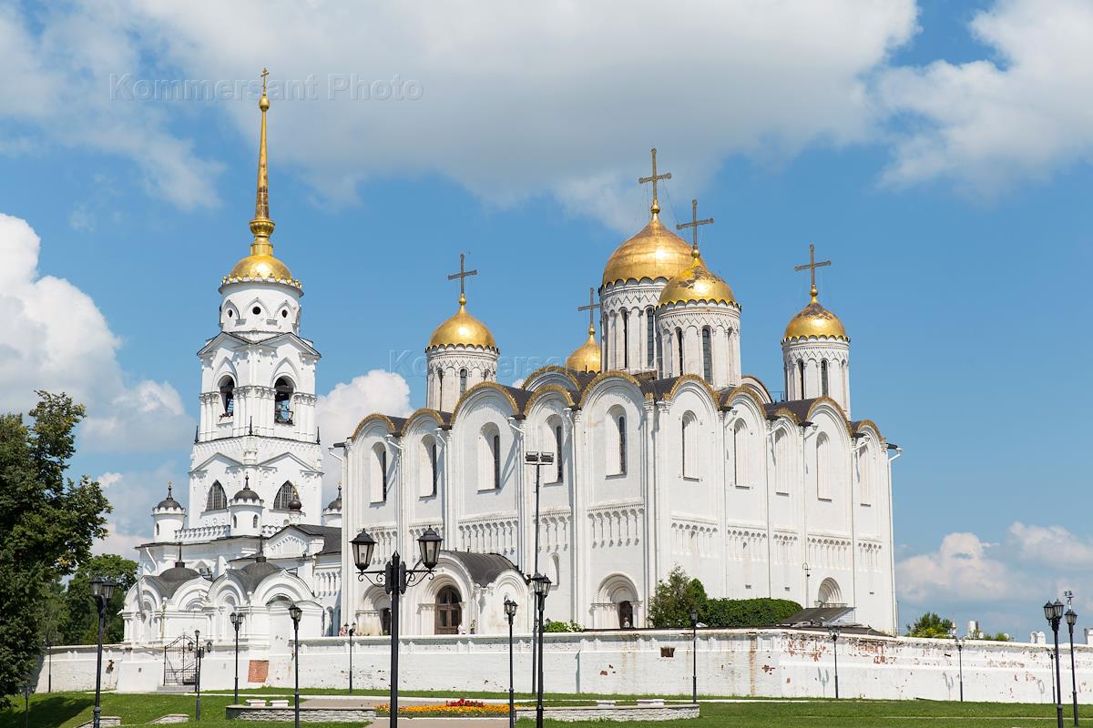
[[[444,539],[434,578],[409,589],[403,634],[495,634],[526,576],[551,580],[546,618],[586,628],[648,625],[658,581],[677,565],[710,596],[774,597],[855,610],[894,633],[891,462],[898,449],[850,416],[850,339],[811,299],[781,338],[784,397],[740,359],[741,306],[697,244],[660,220],[654,152],[649,223],[603,267],[588,338],[564,367],[497,383],[501,349],[459,308],[425,347],[425,406],[365,416],[334,433],[338,497],[324,504],[315,416],[319,354],[301,336],[303,287],[273,255],[266,112],[250,254],[220,287],[220,332],[198,351],[200,423],[188,504],[153,510],[126,598],[126,641],[169,644],[201,630],[249,644],[386,632],[390,601],[356,578],[349,541],[366,530],[373,568]],[[595,310],[600,311],[599,339]],[[363,413],[362,413],[363,414]],[[549,466],[526,464],[551,453]],[[538,491],[538,492],[537,492]],[[538,503],[538,512],[537,512]],[[412,565],[412,564],[410,564]]]

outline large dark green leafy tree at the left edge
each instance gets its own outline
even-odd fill
[[[83,406],[37,394],[32,423],[0,415],[0,706],[40,653],[50,585],[91,558],[110,511],[97,482],[64,477]]]

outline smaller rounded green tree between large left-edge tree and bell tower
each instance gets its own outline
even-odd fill
[[[98,641],[98,610],[91,597],[91,580],[95,576],[108,576],[118,585],[106,606],[103,642],[121,642],[125,636],[125,623],[117,614],[125,606],[126,592],[137,582],[137,562],[116,553],[106,553],[80,564],[69,580],[60,625],[64,644],[90,645]]]

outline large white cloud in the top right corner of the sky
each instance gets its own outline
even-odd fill
[[[885,172],[904,184],[950,178],[995,194],[1043,179],[1093,153],[1093,4],[1083,0],[999,0],[971,32],[991,58],[935,61],[881,74],[879,100],[909,133],[896,131]]]

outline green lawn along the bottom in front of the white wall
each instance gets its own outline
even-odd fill
[[[250,693],[279,693],[284,690],[263,689],[247,691]],[[336,694],[336,691],[309,691]],[[362,691],[357,691],[362,692]],[[383,696],[381,691],[367,691],[368,694]],[[426,693],[407,691],[418,695],[436,697],[437,702],[457,695],[453,693]],[[363,694],[363,692],[362,692]],[[479,695],[460,694],[466,697],[501,697],[501,693],[483,693]],[[554,700],[573,702],[590,700],[590,695],[551,695]],[[630,696],[633,697],[633,696]],[[23,726],[22,696],[13,696],[13,706],[0,709],[0,728],[21,728]],[[153,719],[168,713],[186,713],[191,716],[189,725],[200,725],[202,728],[239,728],[238,721],[228,723],[224,718],[224,706],[232,702],[231,695],[202,695],[202,719],[200,724],[192,721],[195,697],[192,695],[133,695],[103,694],[103,715],[118,715],[124,726],[148,725]],[[52,693],[36,694],[31,697],[30,725],[50,728],[73,728],[91,720],[94,695],[89,693]],[[1084,707],[1093,717],[1093,706]],[[1067,724],[1070,724],[1070,707],[1066,707]],[[379,725],[386,724],[380,720]],[[574,724],[548,720],[552,728],[572,727]],[[289,726],[289,723],[248,724]],[[359,724],[308,724],[315,728],[345,728]],[[407,724],[411,725],[412,724]],[[458,725],[458,724],[454,724]],[[532,725],[521,720],[522,727]],[[599,724],[603,726],[604,724]],[[663,723],[612,723],[606,724],[614,728],[720,728],[731,725],[733,728],[783,728],[785,726],[807,726],[808,728],[951,728],[964,726],[983,726],[984,728],[1050,728],[1055,725],[1055,706],[1049,704],[1013,704],[1013,703],[948,703],[932,701],[833,701],[807,700],[791,702],[775,702],[771,700],[754,700],[739,703],[704,703],[702,717],[695,720]]]

